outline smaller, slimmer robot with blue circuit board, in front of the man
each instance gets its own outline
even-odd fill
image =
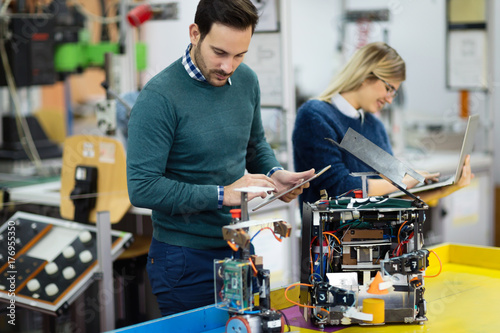
[[[214,261],[215,306],[229,312],[226,333],[284,332],[285,318],[279,311],[271,309],[270,271],[264,269],[261,256],[250,254],[251,238],[248,231],[250,227],[259,227],[258,232],[271,229],[275,238],[281,241],[290,236],[291,226],[280,219],[247,220],[247,192],[261,192],[263,189],[239,190],[242,193],[241,209],[231,210],[233,223],[222,229],[224,240],[235,255]],[[254,303],[255,292],[259,293],[258,306]]]

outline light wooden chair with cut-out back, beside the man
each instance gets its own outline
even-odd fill
[[[95,195],[88,194],[89,198],[95,197],[95,206],[90,210],[88,221],[96,223],[97,212],[109,211],[110,221],[116,224],[122,220],[127,211],[131,208],[128,198],[127,177],[126,177],[126,157],[123,145],[120,141],[95,135],[75,135],[64,141],[63,165],[61,170],[61,208],[60,214],[63,218],[74,220],[75,203],[72,193],[75,189],[75,174],[77,168],[81,166],[93,167],[97,169],[97,186]],[[85,195],[83,195],[85,196]],[[139,271],[145,268],[145,256],[151,244],[151,235],[134,234],[134,242],[127,248],[114,262],[118,272],[124,269],[127,272],[134,272],[132,276],[139,276]],[[129,274],[130,275],[130,274]],[[140,316],[142,309],[139,309],[137,299],[140,295],[139,284],[143,284],[139,278],[136,283],[126,281],[129,285],[126,288],[124,278],[119,273],[115,275],[115,281],[122,286],[120,292],[116,294],[119,302],[132,307],[133,314],[116,313],[118,320],[125,320],[127,316]],[[127,294],[127,295],[125,295]],[[125,302],[125,298],[130,298]],[[135,303],[135,304],[133,304]],[[134,322],[135,323],[135,322]]]

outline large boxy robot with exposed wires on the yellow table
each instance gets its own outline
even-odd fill
[[[426,209],[419,201],[385,197],[305,203],[300,304],[306,320],[319,327],[427,320],[422,288],[429,266],[429,251],[422,249]],[[375,304],[365,302],[374,298],[372,293],[385,302],[363,311],[363,304]],[[368,311],[377,318],[367,319]]]

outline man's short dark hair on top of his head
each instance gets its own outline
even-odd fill
[[[251,26],[253,34],[258,21],[257,8],[250,0],[200,0],[194,16],[202,40],[214,23],[241,30]]]

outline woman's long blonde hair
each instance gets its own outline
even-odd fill
[[[370,43],[357,50],[317,99],[330,102],[333,95],[356,90],[366,79],[377,77],[398,82],[406,79],[404,60],[383,42]]]

